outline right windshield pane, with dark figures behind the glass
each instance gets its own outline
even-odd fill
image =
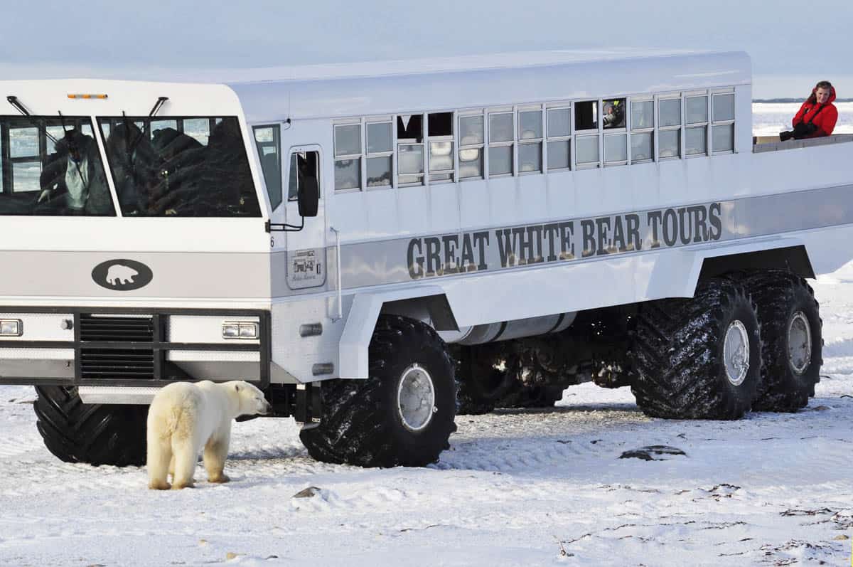
[[[125,216],[259,217],[235,117],[99,117]]]

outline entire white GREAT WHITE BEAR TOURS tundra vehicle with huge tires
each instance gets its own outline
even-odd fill
[[[588,380],[661,418],[814,394],[853,137],[754,143],[746,54],[0,91],[0,383],[60,459],[142,464],[172,381],[256,383],[363,466]]]

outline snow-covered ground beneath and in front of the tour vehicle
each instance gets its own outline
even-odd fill
[[[31,388],[0,387],[0,564],[850,564],[853,264],[821,278],[815,399],[738,422],[650,419],[629,389],[457,418],[438,465],[311,460],[291,420],[236,424],[233,482],[146,488],[61,463]],[[649,445],[686,453],[619,459]],[[293,495],[318,488],[310,498]]]

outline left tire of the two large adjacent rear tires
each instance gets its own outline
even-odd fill
[[[756,308],[744,287],[727,279],[700,282],[692,299],[642,306],[631,391],[654,418],[741,418],[761,379],[760,345]]]

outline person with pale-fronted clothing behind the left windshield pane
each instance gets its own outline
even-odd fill
[[[68,214],[113,213],[113,200],[95,139],[76,129],[67,130],[55,149],[38,179],[42,192],[37,204],[64,196]]]

